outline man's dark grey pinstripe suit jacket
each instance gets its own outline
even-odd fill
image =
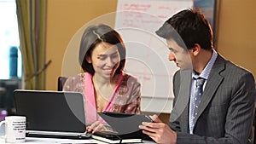
[[[191,71],[175,73],[170,126],[177,132],[177,144],[252,143],[252,73],[218,55],[201,96],[194,135],[189,135],[190,84]]]

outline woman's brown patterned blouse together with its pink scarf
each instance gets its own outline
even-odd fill
[[[67,78],[63,91],[76,91],[84,95],[84,110],[86,124],[92,124],[100,120],[96,110],[96,96],[92,76],[88,72],[79,73],[74,77]],[[102,112],[125,112],[141,113],[141,84],[137,79],[126,73],[119,74],[113,95]]]

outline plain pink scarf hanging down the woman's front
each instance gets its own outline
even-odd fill
[[[94,85],[92,83],[92,75],[88,72],[84,74],[84,108],[85,108],[85,118],[86,124],[92,124],[96,122],[98,119],[97,117],[97,110],[96,110],[96,96],[94,93]],[[119,78],[115,88],[113,89],[113,93],[111,99],[108,101],[108,104],[104,107],[102,112],[112,112],[113,111],[113,104],[115,101],[115,97],[117,94],[117,89],[119,88],[120,82],[123,79],[123,74],[119,74]],[[101,120],[102,121],[102,120]]]

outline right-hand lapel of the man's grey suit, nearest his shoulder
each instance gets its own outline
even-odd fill
[[[225,61],[224,59],[218,55],[214,65],[212,66],[212,70],[207,79],[207,85],[204,89],[203,94],[201,95],[201,103],[198,107],[198,115],[195,119],[195,123],[197,119],[201,116],[201,113],[206,109],[209,102],[212,100],[213,95],[218,89],[219,84],[222,83],[223,77],[219,74],[219,72],[224,70]]]

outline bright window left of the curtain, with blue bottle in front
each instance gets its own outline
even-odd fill
[[[0,0],[0,79],[21,78],[21,54],[15,0]]]

